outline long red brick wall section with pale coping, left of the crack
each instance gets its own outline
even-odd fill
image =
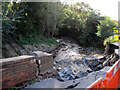
[[[0,71],[2,72],[2,88],[35,78],[37,64],[34,56],[19,56],[1,59]]]

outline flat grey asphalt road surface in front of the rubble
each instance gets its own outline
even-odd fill
[[[26,88],[87,88],[89,85],[91,85],[93,82],[95,82],[100,77],[103,77],[103,79],[106,76],[106,72],[110,69],[110,67],[104,67],[100,71],[95,71],[90,74],[88,74],[86,77],[82,77],[75,80],[68,80],[65,82],[61,82],[54,78],[49,78],[46,80],[43,80],[41,82],[32,84]]]

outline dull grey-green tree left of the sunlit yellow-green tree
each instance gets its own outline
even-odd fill
[[[35,3],[35,5],[35,16],[40,32],[47,37],[53,37],[58,32],[62,20],[60,17],[61,4],[46,2]]]

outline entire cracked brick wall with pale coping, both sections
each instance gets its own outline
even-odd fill
[[[53,57],[51,54],[40,51],[39,59],[37,57],[33,54],[0,59],[0,73],[2,73],[0,83],[2,83],[2,88],[31,80],[36,78],[38,72],[43,73],[52,69]],[[38,61],[41,63],[38,64]]]

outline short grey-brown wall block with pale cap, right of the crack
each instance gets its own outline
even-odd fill
[[[30,55],[34,55],[36,57],[37,64],[39,67],[39,73],[45,73],[49,70],[52,70],[54,63],[52,54],[42,51],[35,51],[32,52]]]

